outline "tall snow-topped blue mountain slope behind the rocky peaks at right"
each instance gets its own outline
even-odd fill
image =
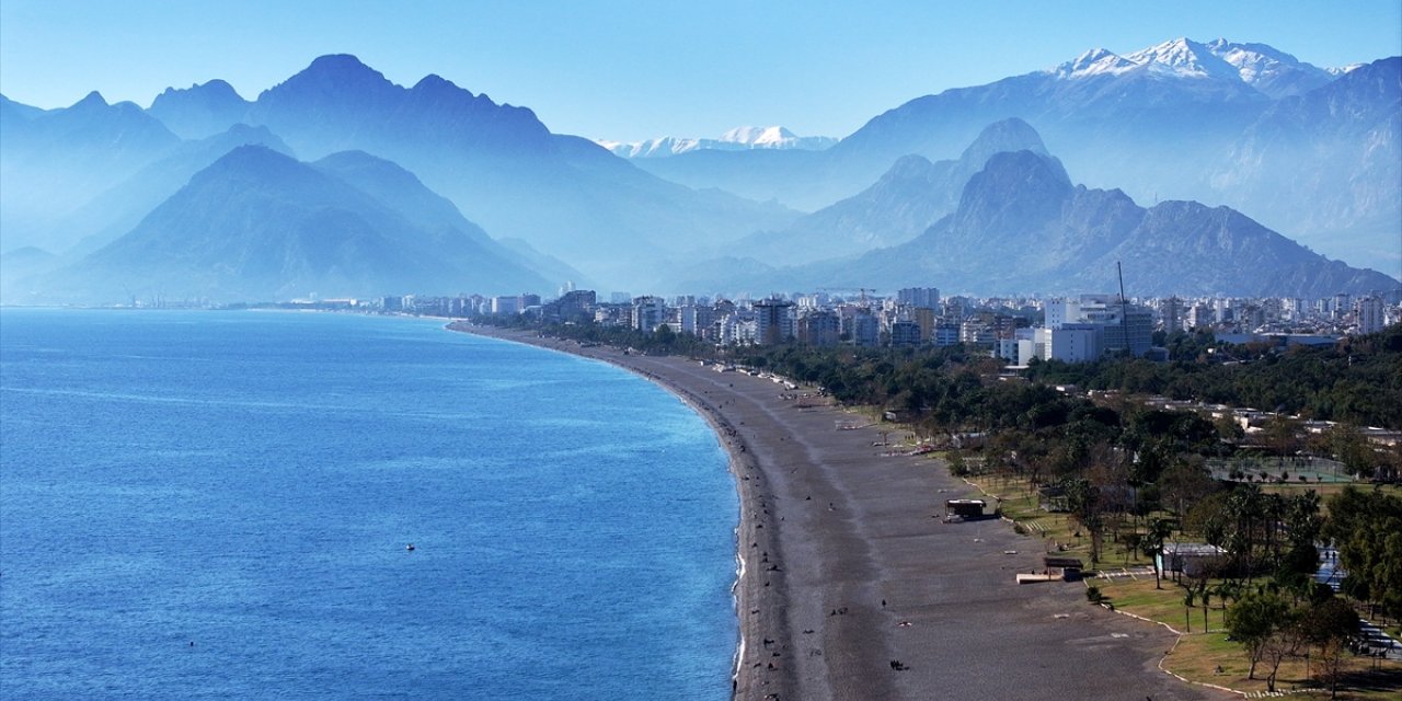
[[[1220,153],[1269,104],[1204,45],[1176,39],[1130,56],[1095,49],[1047,70],[911,100],[822,151],[819,163],[791,161],[768,182],[744,177],[751,165],[771,167],[750,153],[638,163],[686,185],[817,209],[859,191],[901,156],[952,158],[986,125],[1018,116],[1068,167],[1096,181],[1144,184],[1151,195],[1166,171],[1185,181],[1186,193],[1197,193],[1206,188],[1173,175],[1183,170],[1178,165]]]

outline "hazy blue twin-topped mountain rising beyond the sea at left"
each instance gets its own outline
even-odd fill
[[[548,285],[394,164],[338,154],[313,165],[241,146],[130,233],[31,289],[59,300],[238,301]]]

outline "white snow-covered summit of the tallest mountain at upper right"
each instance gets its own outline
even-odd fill
[[[1143,72],[1172,79],[1239,81],[1279,100],[1302,95],[1356,67],[1321,69],[1265,43],[1227,39],[1200,43],[1178,38],[1124,56],[1091,49],[1046,73],[1068,80]]]

